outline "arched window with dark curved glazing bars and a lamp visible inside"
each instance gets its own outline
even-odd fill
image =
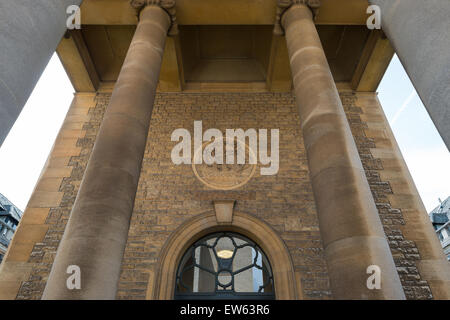
[[[210,234],[184,254],[177,271],[175,299],[275,299],[270,263],[248,238]]]

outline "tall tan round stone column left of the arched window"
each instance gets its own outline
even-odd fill
[[[43,299],[114,299],[116,296],[165,40],[171,25],[166,10],[174,7],[174,1],[161,2],[132,2],[144,8],[59,244]],[[70,276],[67,268],[71,265],[80,268],[81,289],[69,290],[66,286]]]

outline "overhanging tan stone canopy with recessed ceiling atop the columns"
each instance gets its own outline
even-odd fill
[[[115,0],[104,10],[103,0],[83,2],[82,29],[71,32],[58,48],[76,90],[93,91],[117,79],[135,29],[136,10],[146,3],[152,1],[136,0],[130,6],[129,1]],[[164,50],[159,92],[206,89],[217,83],[244,90],[291,90],[285,42],[269,31],[277,20],[276,1],[181,0],[161,5],[170,11],[174,27]],[[365,9],[364,0],[324,0],[316,24],[336,81],[375,90],[393,51],[381,46],[386,42],[381,33],[365,27]],[[83,64],[86,72],[80,73]]]

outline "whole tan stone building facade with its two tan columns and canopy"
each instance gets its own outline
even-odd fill
[[[450,297],[377,99],[394,50],[381,31],[350,26],[367,3],[342,18],[331,2],[263,2],[249,15],[226,5],[227,20],[194,2],[132,1],[138,21],[97,24],[101,5],[83,4],[88,23],[57,50],[77,92],[1,265],[0,298],[172,299],[182,257],[220,232],[261,248],[277,299]],[[278,172],[174,164],[172,134],[195,121],[278,129]],[[67,286],[74,265],[81,288]]]

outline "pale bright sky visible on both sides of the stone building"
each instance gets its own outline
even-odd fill
[[[0,193],[24,210],[74,89],[55,54],[0,147]],[[378,88],[379,99],[427,211],[450,196],[450,153],[395,56]]]

